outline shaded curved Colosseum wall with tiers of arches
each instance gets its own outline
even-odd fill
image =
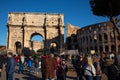
[[[120,40],[116,31],[114,34],[111,22],[93,24],[77,30],[77,41],[79,52],[90,53],[94,50],[96,53],[120,53]]]

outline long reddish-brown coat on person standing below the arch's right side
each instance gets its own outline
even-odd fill
[[[45,76],[46,78],[55,78],[56,60],[48,57],[45,59]]]

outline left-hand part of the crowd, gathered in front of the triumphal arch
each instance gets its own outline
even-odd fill
[[[57,59],[59,58],[59,63]],[[16,66],[18,70],[16,70]],[[6,80],[14,80],[14,72],[18,74],[38,75],[39,71],[42,73],[43,80],[58,80],[66,79],[66,72],[68,67],[65,59],[57,58],[54,54],[43,54],[42,56],[25,56],[24,54],[14,55],[8,52],[7,55],[0,55],[0,74],[5,68]]]

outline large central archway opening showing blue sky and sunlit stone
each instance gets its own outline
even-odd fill
[[[30,49],[35,52],[42,52],[44,49],[44,39],[39,33],[34,33],[31,35]]]

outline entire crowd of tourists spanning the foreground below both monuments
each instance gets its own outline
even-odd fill
[[[108,80],[120,79],[120,63],[114,56],[113,63],[107,63],[106,53],[99,54],[79,54],[73,55],[69,61],[73,65],[73,70],[77,76],[75,80],[102,80],[103,74]],[[24,74],[27,70],[28,74],[39,71],[42,73],[43,80],[66,80],[69,66],[66,59],[61,55],[43,54],[42,56],[25,56],[24,54],[13,55],[8,52],[7,56],[0,55],[0,77],[3,68],[6,71],[6,80],[14,80],[14,72],[16,66],[19,67],[18,73]]]

